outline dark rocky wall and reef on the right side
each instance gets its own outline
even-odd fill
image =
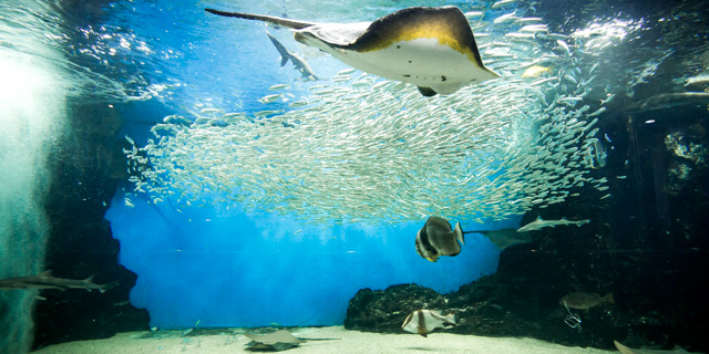
[[[495,274],[450,294],[413,284],[363,289],[350,301],[346,327],[402,333],[413,310],[455,310],[452,333],[709,352],[708,115],[706,105],[689,105],[605,118],[602,132],[619,134],[608,165],[593,174],[606,176],[610,189],[577,190],[579,198],[523,220],[542,215],[590,218],[589,225],[534,231],[533,243],[501,253]],[[650,118],[656,123],[646,124]],[[606,192],[612,197],[599,200]],[[582,321],[572,329],[559,300],[576,291],[613,292],[615,303],[571,309]]]

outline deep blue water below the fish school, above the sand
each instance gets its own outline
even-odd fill
[[[359,289],[414,282],[451,292],[497,267],[499,250],[475,235],[455,258],[422,259],[420,222],[323,230],[288,216],[133,201],[116,197],[106,218],[120,262],[138,274],[131,302],[161,329],[341,324]]]

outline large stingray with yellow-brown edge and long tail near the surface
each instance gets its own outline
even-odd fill
[[[408,8],[373,22],[357,23],[205,10],[291,29],[296,41],[354,69],[413,84],[424,96],[451,94],[467,84],[500,77],[483,64],[473,30],[456,7]]]

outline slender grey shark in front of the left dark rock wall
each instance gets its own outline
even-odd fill
[[[96,284],[93,282],[93,275],[83,280],[54,278],[51,270],[44,271],[39,275],[0,279],[0,290],[58,289],[64,291],[66,289],[86,289],[86,291],[99,290],[104,293],[117,284],[119,282],[115,281],[101,285]]]

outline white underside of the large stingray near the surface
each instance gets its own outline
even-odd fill
[[[467,84],[499,77],[472,62],[467,55],[440,44],[438,39],[401,41],[368,52],[332,48],[310,37],[304,40],[306,44],[317,46],[354,69],[430,87],[439,94],[451,94]]]

